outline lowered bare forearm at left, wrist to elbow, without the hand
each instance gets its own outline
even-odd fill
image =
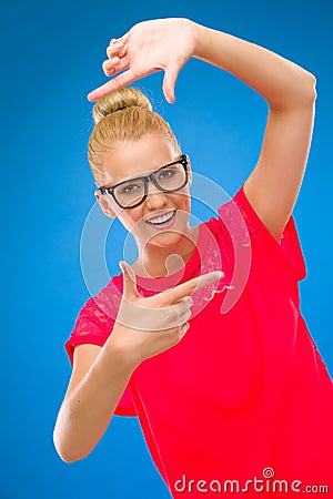
[[[60,457],[72,462],[88,456],[104,434],[134,366],[112,335],[81,381],[65,396],[53,434]]]

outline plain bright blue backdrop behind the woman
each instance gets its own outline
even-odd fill
[[[1,2],[2,411],[1,499],[168,498],[135,418],[114,417],[84,460],[58,457],[52,430],[71,373],[63,349],[89,298],[80,237],[94,203],[87,161],[88,91],[107,79],[105,47],[140,20],[188,17],[261,44],[317,79],[316,121],[294,218],[307,265],[301,308],[331,373],[333,3],[95,0]],[[330,63],[331,61],[331,63]],[[173,126],[194,171],[233,195],[251,173],[268,106],[234,77],[191,60],[176,103],[162,73],[141,81]],[[201,206],[194,206],[201,215]],[[108,242],[118,274],[123,232]],[[110,254],[111,252],[111,254]]]

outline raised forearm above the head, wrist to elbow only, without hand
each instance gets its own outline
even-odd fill
[[[272,109],[289,110],[315,98],[315,78],[260,45],[192,23],[193,57],[214,64],[259,92]]]

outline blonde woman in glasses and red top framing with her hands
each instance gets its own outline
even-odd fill
[[[89,161],[101,208],[134,235],[139,256],[84,304],[67,342],[73,373],[54,428],[59,455],[88,456],[113,414],[137,415],[174,497],[332,491],[332,381],[300,313],[306,273],[292,217],[315,78],[186,19],[135,24],[107,53],[105,74],[120,74],[89,94],[99,100]],[[191,57],[240,78],[269,104],[253,172],[199,227],[188,223],[188,156],[147,98],[124,88],[163,70],[174,102]],[[249,247],[246,273],[236,253]],[[234,281],[239,267],[243,281]],[[240,287],[223,308],[228,289]]]

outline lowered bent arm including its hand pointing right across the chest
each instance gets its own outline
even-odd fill
[[[193,305],[189,295],[223,276],[210,272],[142,297],[128,265],[122,272],[123,296],[109,338],[103,347],[79,345],[74,349],[73,373],[53,431],[56,449],[67,462],[87,457],[95,447],[134,369],[184,336]]]

